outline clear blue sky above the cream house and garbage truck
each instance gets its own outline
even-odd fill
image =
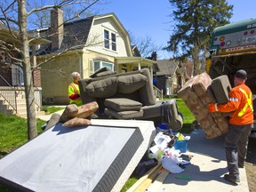
[[[256,0],[227,0],[233,4],[231,22],[256,18]],[[166,46],[172,34],[172,7],[169,0],[108,0],[97,5],[99,14],[114,12],[124,28],[136,38],[149,36],[158,46]],[[157,59],[169,59],[171,53],[158,51]]]

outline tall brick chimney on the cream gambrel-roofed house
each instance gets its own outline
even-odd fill
[[[52,52],[60,49],[63,40],[63,12],[60,8],[54,7],[51,11],[51,40]]]

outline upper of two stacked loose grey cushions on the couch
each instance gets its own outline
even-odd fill
[[[140,102],[126,98],[106,99],[104,105],[116,111],[139,111],[142,107]]]

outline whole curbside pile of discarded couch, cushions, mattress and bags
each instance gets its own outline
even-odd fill
[[[53,114],[42,134],[0,160],[1,182],[21,191],[120,191],[135,171],[171,159],[182,115],[175,100],[156,101],[148,68],[100,69],[79,88],[83,106]]]

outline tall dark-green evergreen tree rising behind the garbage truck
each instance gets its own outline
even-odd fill
[[[194,63],[194,76],[202,72],[200,59],[210,45],[213,28],[229,23],[233,5],[226,0],[169,0],[174,10],[173,33],[165,50],[174,53],[179,60],[190,59]]]

